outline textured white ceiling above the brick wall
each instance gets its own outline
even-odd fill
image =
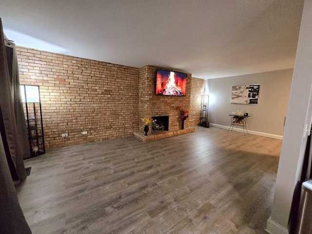
[[[19,46],[220,78],[294,66],[304,0],[1,0]]]

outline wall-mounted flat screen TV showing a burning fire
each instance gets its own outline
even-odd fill
[[[156,95],[185,96],[187,74],[157,69]]]

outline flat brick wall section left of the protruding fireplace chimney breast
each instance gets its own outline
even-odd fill
[[[17,47],[20,83],[39,85],[50,148],[132,136],[137,130],[138,71]],[[88,134],[82,135],[82,131]]]

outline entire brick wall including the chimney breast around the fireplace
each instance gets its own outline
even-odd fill
[[[186,96],[156,96],[155,66],[139,69],[24,47],[17,54],[20,83],[40,87],[49,148],[64,145],[62,133],[68,133],[65,145],[133,136],[143,132],[143,117],[169,116],[169,130],[178,130],[178,105],[190,111],[185,128],[199,122],[205,80],[191,74]]]

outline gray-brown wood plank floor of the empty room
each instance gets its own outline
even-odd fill
[[[17,187],[33,234],[265,234],[281,140],[198,126],[48,150]]]

